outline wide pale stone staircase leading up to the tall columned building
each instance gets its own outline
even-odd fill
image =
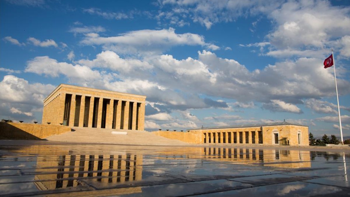
[[[125,132],[127,133],[125,135]],[[115,134],[112,134],[115,133]],[[148,131],[100,129],[86,127],[72,127],[72,131],[61,135],[45,138],[49,141],[81,142],[81,143],[115,143],[132,145],[184,145],[179,140],[172,140],[154,135]]]

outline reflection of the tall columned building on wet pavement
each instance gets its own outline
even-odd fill
[[[81,179],[100,184],[142,179],[142,155],[59,155],[37,158],[35,185],[40,190],[76,187]]]

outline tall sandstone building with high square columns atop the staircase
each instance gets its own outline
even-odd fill
[[[60,84],[44,100],[42,124],[144,130],[146,96]]]

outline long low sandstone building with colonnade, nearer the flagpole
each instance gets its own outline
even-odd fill
[[[201,143],[309,145],[307,126],[288,122],[223,127],[202,127],[188,131],[201,135]]]

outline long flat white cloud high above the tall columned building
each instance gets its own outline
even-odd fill
[[[80,43],[102,45],[105,50],[119,54],[161,54],[173,46],[207,46],[204,37],[198,34],[176,34],[175,29],[137,30],[112,37],[86,36]]]

